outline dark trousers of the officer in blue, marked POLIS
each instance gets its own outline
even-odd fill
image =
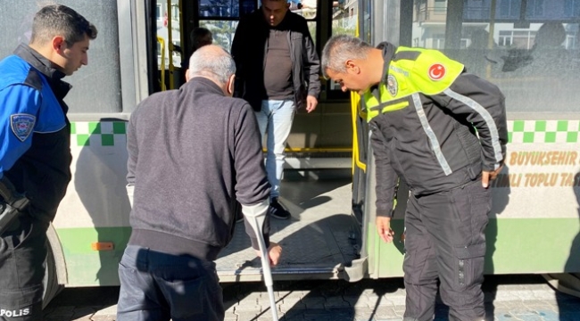
[[[0,321],[42,320],[47,228],[22,215],[0,235]]]

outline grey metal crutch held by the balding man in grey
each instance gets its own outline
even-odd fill
[[[244,218],[247,219],[250,226],[252,226],[253,232],[258,238],[258,245],[260,246],[261,251],[261,271],[264,276],[264,284],[266,284],[266,288],[268,289],[269,309],[272,310],[273,320],[278,321],[276,299],[274,298],[274,282],[272,281],[272,271],[269,268],[268,248],[266,247],[262,233],[262,226],[264,226],[264,221],[266,220],[268,207],[266,207],[266,210],[261,210],[261,212],[257,212],[255,210],[256,207],[252,206],[251,208],[253,208],[253,210],[246,210],[246,212],[244,212]],[[245,208],[248,209],[248,207]]]

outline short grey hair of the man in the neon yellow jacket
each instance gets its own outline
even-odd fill
[[[327,70],[346,72],[346,62],[349,59],[366,59],[372,46],[358,37],[336,35],[328,39],[324,45],[321,57],[321,69],[328,78]]]

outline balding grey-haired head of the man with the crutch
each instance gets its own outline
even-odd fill
[[[215,50],[215,47],[221,50]],[[236,73],[236,63],[232,56],[219,45],[204,45],[189,58],[189,77],[209,77],[217,80],[220,85],[228,83],[229,78]]]

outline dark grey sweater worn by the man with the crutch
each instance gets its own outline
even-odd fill
[[[252,108],[207,78],[151,95],[131,115],[130,244],[214,260],[234,232],[236,211],[264,202],[269,183]],[[268,222],[268,218],[267,218]],[[268,244],[269,224],[264,236]],[[252,229],[246,232],[253,238]]]

